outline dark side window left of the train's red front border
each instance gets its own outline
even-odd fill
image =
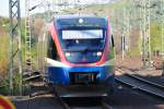
[[[57,48],[51,35],[48,36],[48,47],[47,47],[47,56],[54,60],[57,59]]]

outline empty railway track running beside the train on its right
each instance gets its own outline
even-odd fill
[[[119,83],[129,85],[133,88],[140,89],[144,93],[154,95],[156,97],[160,97],[162,99],[164,99],[164,86],[143,80],[139,76],[132,75],[132,74],[127,74],[127,73],[122,73],[124,70],[120,69],[116,69],[116,74],[118,74],[115,80]]]

